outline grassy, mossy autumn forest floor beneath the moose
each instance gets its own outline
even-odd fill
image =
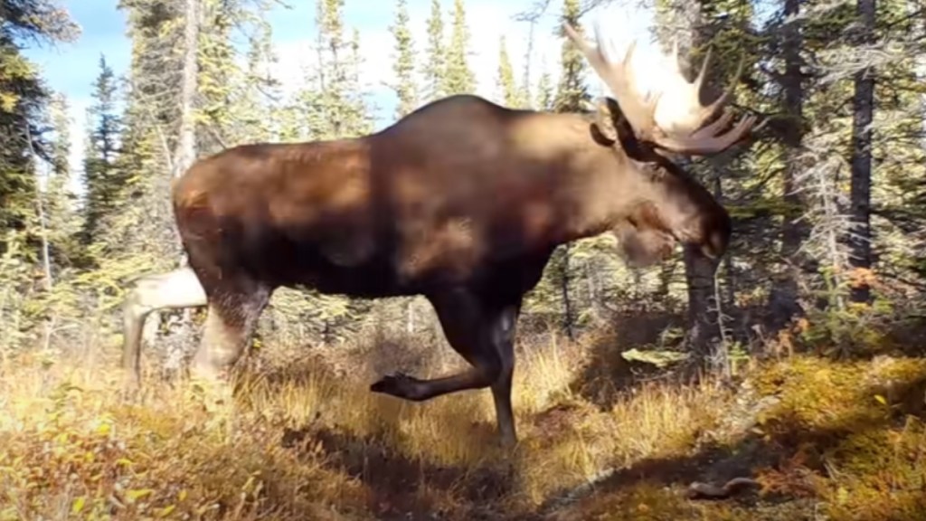
[[[121,400],[112,350],[7,358],[0,519],[926,519],[923,358],[797,354],[684,386],[629,377],[614,337],[526,340],[507,452],[488,390],[369,392],[458,367],[449,349],[372,344],[258,354],[215,410],[151,375]],[[687,495],[734,477],[757,483]]]

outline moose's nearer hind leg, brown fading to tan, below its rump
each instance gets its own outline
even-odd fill
[[[270,290],[248,283],[246,289],[221,288],[209,299],[206,325],[194,355],[195,377],[221,379],[241,358],[248,340],[257,327],[257,318],[267,306]]]

